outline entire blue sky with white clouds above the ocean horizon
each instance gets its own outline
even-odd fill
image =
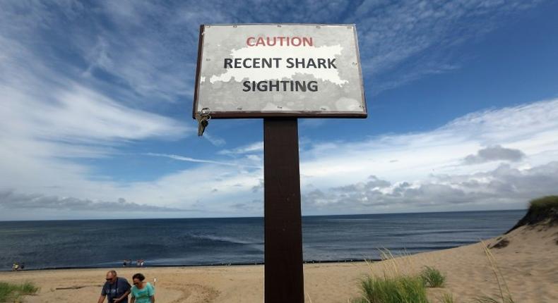
[[[555,1],[2,1],[0,220],[263,215],[261,119],[191,119],[198,28],[355,23],[369,118],[299,120],[304,215],[558,188]]]

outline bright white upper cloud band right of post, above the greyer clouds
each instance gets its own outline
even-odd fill
[[[372,174],[392,182],[418,180],[430,173],[494,168],[497,161],[475,167],[461,163],[465,156],[497,144],[520,149],[526,163],[541,165],[557,159],[558,120],[552,118],[557,116],[554,99],[471,113],[429,132],[316,144],[301,155],[301,173],[304,184],[323,186],[335,186],[339,179],[357,183]]]

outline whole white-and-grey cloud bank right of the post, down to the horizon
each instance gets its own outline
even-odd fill
[[[332,214],[523,207],[557,190],[557,116],[554,99],[471,113],[430,132],[316,144],[302,154],[304,209]],[[367,180],[369,175],[381,181]]]

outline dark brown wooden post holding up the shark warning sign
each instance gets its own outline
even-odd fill
[[[265,303],[304,303],[297,118],[263,119]]]

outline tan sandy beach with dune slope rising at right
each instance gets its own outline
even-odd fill
[[[497,265],[515,302],[558,302],[558,227],[523,226],[508,235],[485,241],[492,246],[502,238],[506,247],[492,248]],[[395,264],[395,265],[394,265]],[[395,266],[395,267],[394,267]],[[358,281],[367,274],[384,271],[417,273],[434,266],[446,276],[446,285],[429,289],[429,297],[449,292],[456,302],[475,297],[497,297],[499,288],[481,243],[436,252],[403,256],[395,261],[306,264],[306,302],[348,302],[358,295]],[[395,268],[395,269],[394,269]],[[40,287],[37,295],[24,302],[96,302],[105,272],[110,268],[0,273],[0,280],[31,281]],[[157,302],[263,302],[263,266],[211,266],[165,268],[115,268],[119,276],[131,279],[144,273],[157,278]]]

